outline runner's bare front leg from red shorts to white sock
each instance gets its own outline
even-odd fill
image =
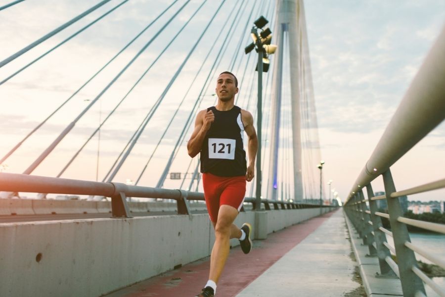
[[[229,205],[221,205],[215,226],[215,244],[210,256],[209,280],[218,284],[230,251],[230,238],[240,238],[241,230],[233,224],[238,210]]]

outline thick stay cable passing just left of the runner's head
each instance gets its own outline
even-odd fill
[[[242,5],[243,5],[243,2],[241,2],[240,9],[238,9],[238,11],[237,11],[237,13],[236,13],[236,15],[235,15],[235,17],[234,17],[234,19],[233,19],[233,22],[231,23],[230,28],[229,28],[229,30],[228,30],[229,33],[226,35],[226,37],[225,37],[225,39],[224,39],[224,41],[223,41],[223,46],[221,47],[220,52],[218,53],[218,57],[221,57],[221,58],[220,58],[219,60],[218,60],[218,58],[217,58],[217,59],[215,60],[214,64],[212,65],[212,68],[211,68],[211,70],[209,71],[209,75],[207,76],[207,79],[206,79],[206,81],[205,81],[204,84],[203,84],[203,88],[201,89],[201,92],[199,93],[199,96],[198,96],[198,98],[201,98],[201,99],[200,99],[200,100],[197,100],[197,101],[195,102],[195,104],[194,104],[194,106],[193,106],[193,108],[192,108],[192,110],[191,110],[191,112],[190,112],[190,114],[189,114],[189,117],[188,117],[188,119],[187,119],[186,125],[184,126],[183,133],[181,133],[181,135],[180,135],[179,138],[178,138],[178,143],[177,143],[177,144],[181,144],[181,143],[184,141],[184,139],[185,139],[185,133],[190,129],[190,126],[191,126],[191,124],[192,124],[191,119],[192,119],[192,117],[195,115],[197,109],[199,108],[199,106],[200,106],[200,104],[201,104],[201,102],[202,102],[202,97],[201,97],[201,96],[202,96],[202,94],[205,94],[205,93],[207,92],[208,88],[210,87],[210,82],[209,82],[209,80],[210,80],[211,77],[213,78],[213,77],[215,76],[216,69],[219,67],[219,65],[220,65],[220,63],[221,63],[221,61],[222,61],[222,57],[223,57],[224,53],[226,52],[226,50],[227,50],[227,48],[228,48],[228,44],[227,44],[226,41],[227,41],[227,39],[228,39],[230,36],[233,36],[233,35],[234,35],[234,32],[232,31],[232,29],[233,29],[233,27],[234,27],[234,24],[239,22],[239,19],[238,19],[238,22],[237,22],[236,20],[237,20],[237,18],[238,18],[239,15],[240,15],[240,16],[242,15],[242,14],[240,14],[240,12],[241,12],[241,11],[244,11],[244,10],[246,9],[246,7],[247,7],[247,5],[246,5],[246,6],[244,6],[243,9],[241,9]],[[225,25],[224,25],[224,26],[225,26]],[[231,33],[230,33],[230,32],[231,32]],[[213,72],[213,74],[212,74],[212,72]],[[168,162],[168,163],[167,163],[167,165],[166,165],[166,167],[165,167],[165,169],[164,169],[163,176],[161,176],[161,178],[160,178],[159,181],[158,181],[158,185],[163,185],[163,184],[164,184],[165,178],[167,177],[167,174],[165,174],[165,173],[168,172],[168,171],[170,170],[170,167],[171,167],[171,165],[172,165],[172,163],[173,163],[173,160],[176,158],[176,155],[178,154],[178,151],[179,151],[179,150],[178,150],[177,148],[175,148],[175,149],[173,150],[173,152],[172,152],[172,154],[171,154],[171,156],[170,156],[170,157],[173,156],[173,159],[172,159],[171,162]],[[192,180],[193,180],[193,179],[192,179]],[[161,187],[161,186],[160,186],[160,187]]]

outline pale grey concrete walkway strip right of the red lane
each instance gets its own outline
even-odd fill
[[[353,292],[359,284],[353,281],[356,262],[350,258],[348,238],[340,209],[236,297],[339,297]]]

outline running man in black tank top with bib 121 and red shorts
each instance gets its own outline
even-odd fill
[[[201,110],[196,116],[195,129],[187,143],[193,158],[201,152],[201,172],[210,220],[215,228],[215,244],[210,256],[207,284],[196,297],[214,297],[218,281],[229,254],[229,240],[237,238],[244,253],[252,250],[252,227],[233,224],[246,194],[246,181],[254,178],[258,138],[253,117],[247,110],[235,105],[238,80],[225,71],[217,80],[216,106]],[[244,133],[248,137],[246,163]]]

